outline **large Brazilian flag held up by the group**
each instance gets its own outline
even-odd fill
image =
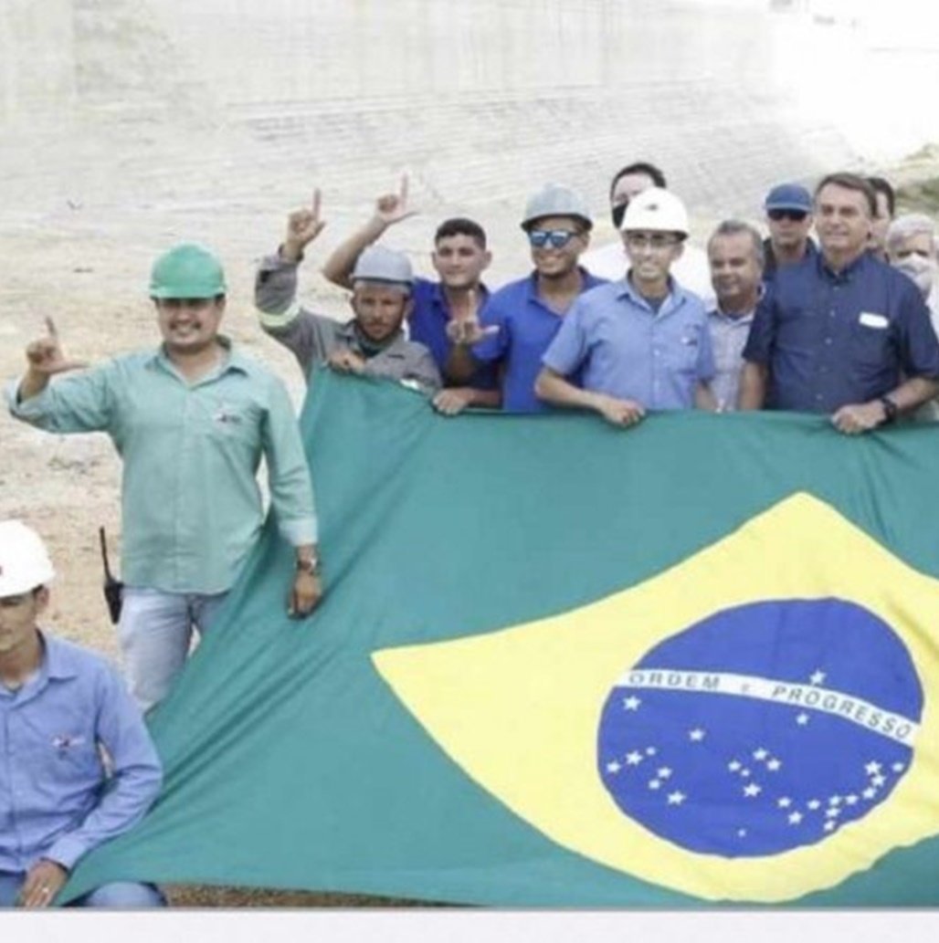
[[[119,879],[511,906],[939,903],[939,434],[436,415],[325,375]]]

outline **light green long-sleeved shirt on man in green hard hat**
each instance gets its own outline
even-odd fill
[[[107,432],[124,459],[122,578],[167,592],[222,592],[258,537],[267,462],[271,503],[293,546],[316,539],[310,468],[287,390],[231,349],[194,383],[162,348],[54,379],[10,412],[48,432]]]

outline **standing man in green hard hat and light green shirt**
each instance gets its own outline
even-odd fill
[[[260,533],[262,455],[280,533],[295,548],[291,613],[307,615],[322,595],[293,405],[273,372],[219,333],[219,260],[204,246],[176,245],[155,262],[150,297],[162,336],[156,350],[82,370],[47,318],[45,336],[26,347],[24,376],[7,390],[18,419],[55,433],[106,432],[124,459],[118,633],[144,710],[169,690],[193,630],[211,631]]]

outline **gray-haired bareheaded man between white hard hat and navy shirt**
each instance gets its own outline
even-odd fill
[[[744,346],[763,288],[763,240],[749,223],[725,220],[708,240],[717,304],[708,312],[716,370],[711,384],[718,412],[737,408]]]

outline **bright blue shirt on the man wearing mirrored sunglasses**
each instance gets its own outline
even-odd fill
[[[580,269],[580,278],[581,293],[607,284],[586,269]],[[507,412],[545,412],[548,408],[535,395],[535,380],[564,317],[538,297],[534,272],[495,291],[479,312],[480,324],[498,330],[473,345],[473,356],[481,363],[504,362],[502,408]]]

